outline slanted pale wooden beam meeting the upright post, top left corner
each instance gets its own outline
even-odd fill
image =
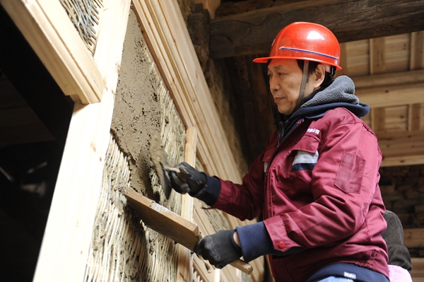
[[[102,76],[59,1],[0,0],[65,95],[100,101]]]

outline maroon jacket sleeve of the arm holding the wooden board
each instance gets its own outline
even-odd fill
[[[264,221],[274,247],[283,252],[351,236],[370,241],[386,228],[378,187],[382,155],[375,134],[362,122],[322,130],[327,132],[310,182],[313,201]]]

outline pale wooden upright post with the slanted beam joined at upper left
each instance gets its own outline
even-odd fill
[[[1,4],[12,18],[19,16],[13,20],[30,44],[35,40],[31,45],[36,52],[48,50],[37,55],[62,90],[76,100],[33,281],[83,281],[131,1],[104,1],[94,57],[79,35],[75,37],[71,23],[62,20],[67,15],[59,1],[1,0]],[[96,103],[84,105],[90,102]]]

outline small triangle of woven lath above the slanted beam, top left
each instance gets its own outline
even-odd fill
[[[87,48],[94,54],[102,0],[59,0]]]

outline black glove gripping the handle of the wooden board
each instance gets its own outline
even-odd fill
[[[213,235],[208,235],[194,246],[194,252],[216,268],[222,269],[242,257],[242,248],[232,237],[234,233],[235,230],[220,230]]]

